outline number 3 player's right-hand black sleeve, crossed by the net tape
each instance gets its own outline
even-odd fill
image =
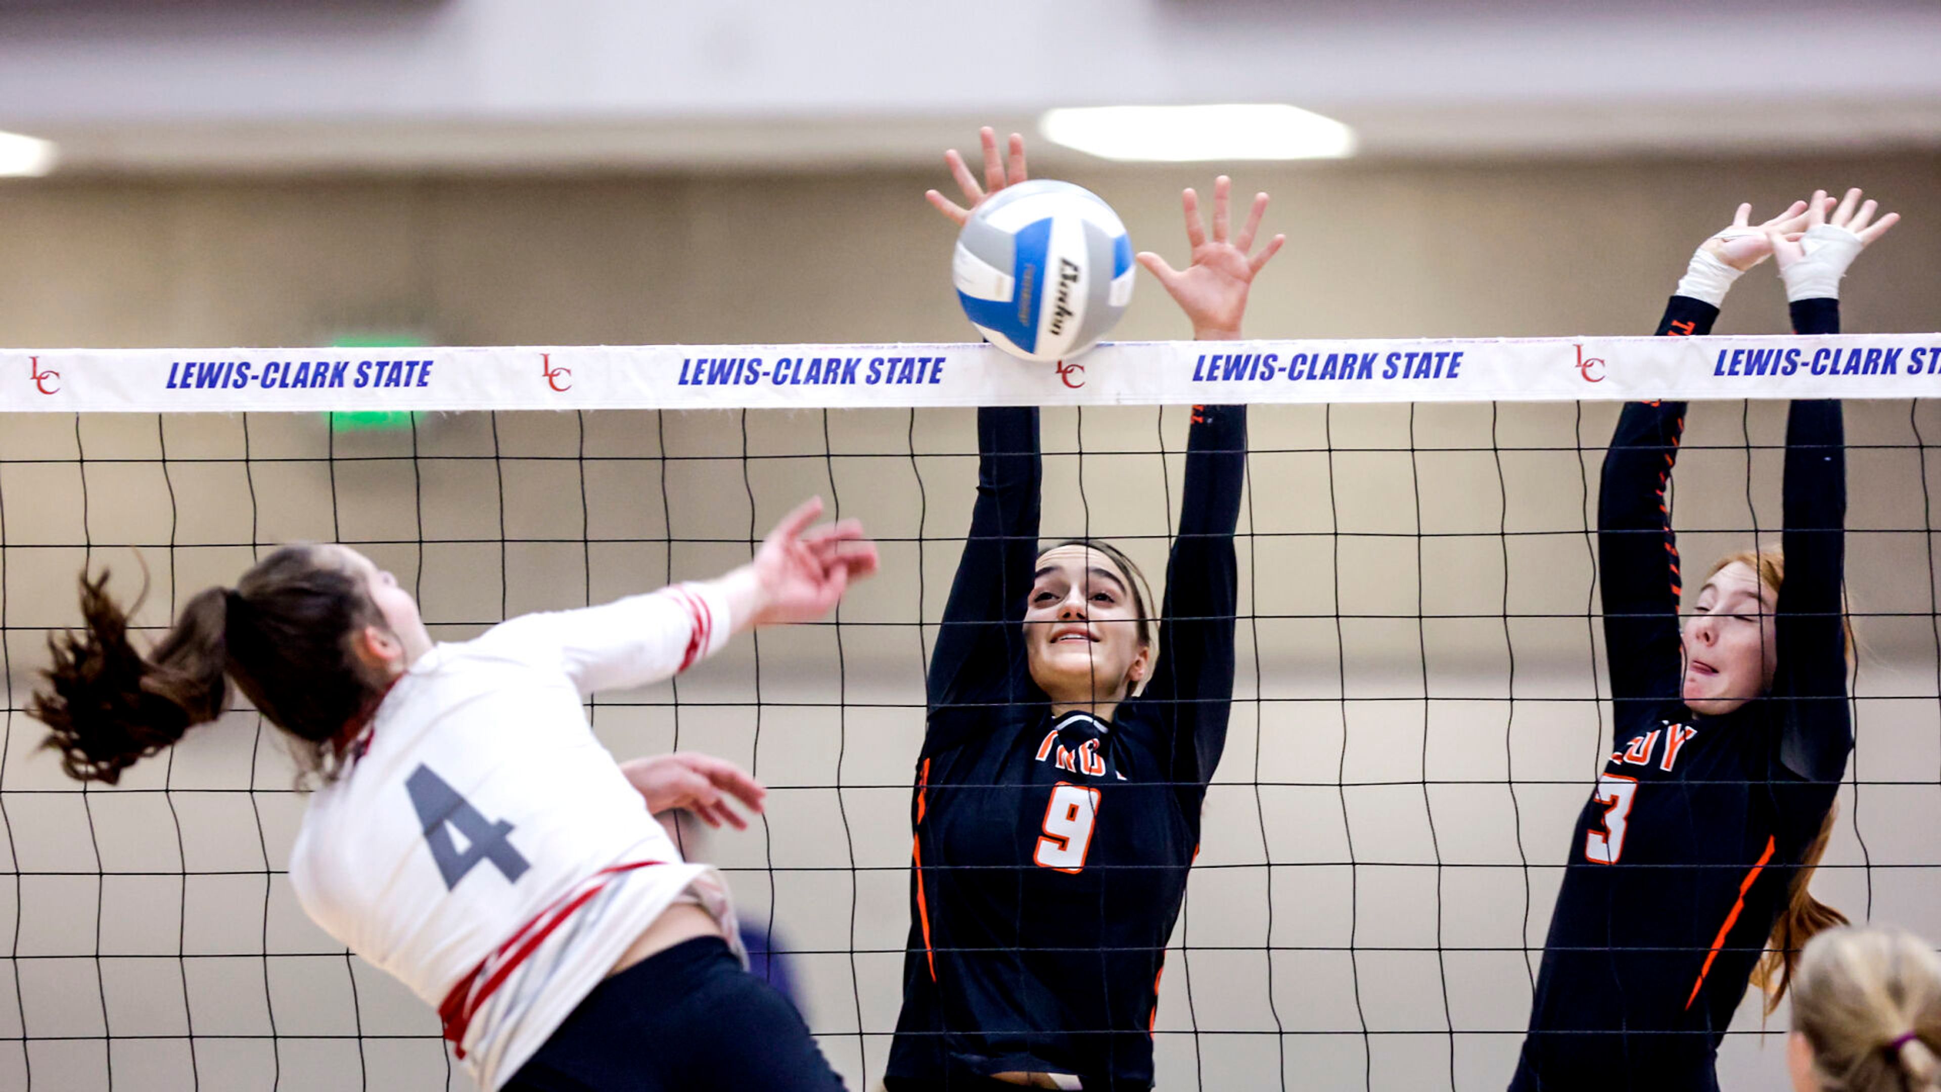
[[[1840,332],[1838,299],[1792,305],[1801,334]],[[1854,744],[1846,705],[1846,426],[1840,402],[1795,400],[1786,414],[1786,486],[1778,666],[1772,696],[1784,701],[1780,760],[1811,781],[1838,781]]]

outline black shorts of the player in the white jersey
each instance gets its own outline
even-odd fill
[[[716,937],[602,981],[505,1092],[840,1090],[796,1007]]]

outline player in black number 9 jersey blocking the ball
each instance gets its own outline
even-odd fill
[[[1017,183],[984,130],[992,190]],[[949,154],[972,206],[982,190]],[[955,210],[936,192],[930,200]],[[1267,194],[1229,241],[1186,190],[1192,266],[1139,255],[1194,321],[1236,338]],[[978,497],[930,661],[912,799],[910,942],[891,1092],[1153,1084],[1159,972],[1233,696],[1246,412],[1196,406],[1180,532],[1153,633],[1139,571],[1102,542],[1038,548],[1038,412],[978,410]]]

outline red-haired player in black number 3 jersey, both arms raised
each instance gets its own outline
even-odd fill
[[[1731,280],[1774,251],[1795,332],[1838,332],[1840,274],[1896,218],[1869,227],[1859,190],[1828,222],[1830,204],[1815,194],[1760,227],[1741,206],[1658,332],[1710,332]],[[1605,455],[1615,750],[1572,834],[1512,1092],[1718,1088],[1718,1043],[1768,937],[1776,1001],[1807,937],[1844,921],[1807,894],[1854,742],[1840,404],[1792,404],[1782,552],[1722,560],[1681,630],[1665,486],[1683,426],[1685,402],[1630,402]]]

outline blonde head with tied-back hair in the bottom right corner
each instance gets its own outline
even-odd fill
[[[1793,981],[1795,1092],[1941,1088],[1941,956],[1898,929],[1815,937]]]

